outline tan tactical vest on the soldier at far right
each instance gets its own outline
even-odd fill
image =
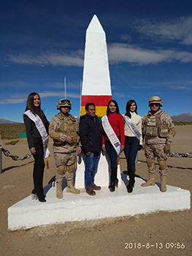
[[[163,110],[161,110],[158,115],[147,115],[143,127],[143,135],[148,137],[167,137],[168,127],[166,125],[162,125],[161,123],[162,113],[164,113]]]

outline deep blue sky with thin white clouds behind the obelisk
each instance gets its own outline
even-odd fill
[[[85,32],[97,15],[107,37],[112,97],[138,113],[159,96],[170,116],[192,113],[191,0],[1,0],[0,118],[23,121],[36,91],[50,121],[59,99],[80,114]]]

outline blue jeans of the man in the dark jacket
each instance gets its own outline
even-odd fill
[[[100,152],[94,154],[91,152],[91,155],[88,157],[85,154],[85,187],[88,189],[94,184],[94,178],[96,175],[97,167],[99,164]]]

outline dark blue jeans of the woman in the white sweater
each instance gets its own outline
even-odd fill
[[[139,149],[139,140],[136,137],[125,136],[124,153],[126,155],[127,167],[135,169],[135,159]]]

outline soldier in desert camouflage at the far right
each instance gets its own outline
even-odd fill
[[[155,186],[155,157],[157,157],[161,192],[166,192],[168,173],[166,153],[171,150],[171,143],[176,132],[172,118],[161,110],[162,106],[163,102],[160,97],[150,97],[150,111],[142,118],[142,134],[145,140],[145,157],[149,173],[149,179],[142,184],[142,187]]]

